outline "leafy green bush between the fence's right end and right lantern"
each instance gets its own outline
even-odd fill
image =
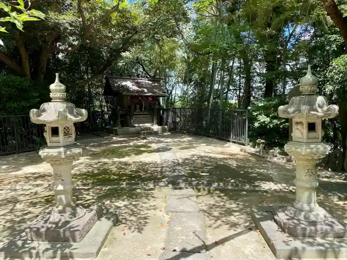
[[[268,147],[283,147],[288,142],[289,121],[278,115],[278,107],[288,104],[282,98],[256,101],[249,109],[248,137],[255,146],[257,139],[266,141]]]

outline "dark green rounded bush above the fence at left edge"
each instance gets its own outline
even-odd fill
[[[40,105],[40,92],[29,80],[13,75],[0,76],[0,115],[26,115]]]

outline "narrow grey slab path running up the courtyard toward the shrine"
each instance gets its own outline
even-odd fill
[[[158,140],[163,171],[173,182],[184,181],[184,170],[168,144]],[[171,214],[165,250],[159,260],[209,260],[206,252],[205,217],[192,189],[173,189],[167,196],[167,214]]]

